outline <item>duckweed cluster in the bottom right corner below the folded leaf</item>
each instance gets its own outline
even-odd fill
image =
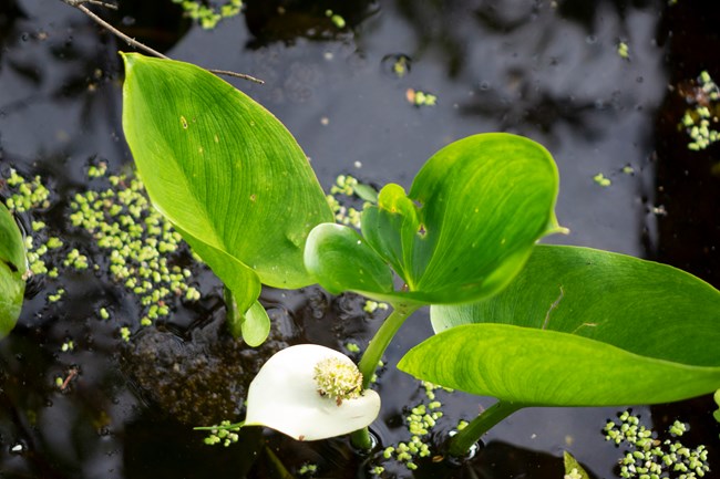
[[[640,425],[639,417],[624,412],[619,421],[608,421],[605,439],[616,445],[627,444],[634,450],[619,460],[620,476],[626,479],[697,479],[710,470],[704,446],[690,449],[679,440],[660,441],[652,430]],[[682,436],[688,426],[676,420],[668,433]]]

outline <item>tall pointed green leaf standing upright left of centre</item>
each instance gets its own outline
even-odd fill
[[[305,241],[332,212],[285,126],[195,65],[123,59],[123,128],[151,200],[230,285],[238,308],[255,303],[260,282],[315,282]]]

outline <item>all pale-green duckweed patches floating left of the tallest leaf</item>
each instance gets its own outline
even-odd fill
[[[106,170],[107,165],[100,162],[89,167],[88,176],[102,179]],[[173,254],[183,244],[182,238],[152,208],[142,183],[124,175],[110,176],[106,180],[111,187],[105,190],[74,195],[69,220],[73,227],[90,233],[97,248],[103,250],[101,261],[110,262],[111,279],[137,296],[144,306],[140,324],[146,326],[171,313],[171,299],[179,296],[197,301],[200,293],[187,284],[192,278],[191,270],[172,264]],[[39,176],[28,180],[17,170],[9,169],[6,185],[6,204],[10,211],[35,216],[30,220],[31,231],[24,237],[31,274],[59,278],[59,268],[75,271],[91,267],[100,269],[80,244],[66,244],[49,233],[51,228],[43,221],[42,210],[51,206],[51,192]],[[55,253],[50,256],[51,252]],[[56,265],[52,264],[54,261]],[[59,288],[48,294],[48,302],[60,301],[64,293],[65,290]],[[103,320],[110,319],[104,308],[97,314]],[[121,331],[121,336],[127,340],[130,330],[126,333]]]

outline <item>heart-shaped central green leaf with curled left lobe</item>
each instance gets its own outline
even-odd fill
[[[433,155],[409,195],[387,185],[378,205],[363,211],[362,233],[405,283],[392,292],[397,301],[475,301],[504,288],[538,238],[562,230],[554,216],[557,189],[555,163],[537,143],[503,133],[474,135]],[[350,275],[337,274],[344,252],[331,244],[326,241],[322,252],[308,244],[306,252],[320,284],[388,298],[384,290],[361,290]]]

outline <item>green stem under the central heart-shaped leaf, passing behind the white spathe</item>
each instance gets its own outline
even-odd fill
[[[385,319],[382,323],[376,335],[370,340],[368,348],[362,353],[360,363],[358,363],[358,368],[362,373],[362,388],[367,389],[370,385],[370,379],[378,368],[378,363],[384,354],[390,341],[395,335],[402,323],[405,322],[408,316],[410,316],[420,305],[418,304],[398,304],[393,306],[392,313]],[[372,439],[370,438],[370,431],[368,428],[356,430],[351,435],[352,445],[362,450],[369,450],[372,448]]]

